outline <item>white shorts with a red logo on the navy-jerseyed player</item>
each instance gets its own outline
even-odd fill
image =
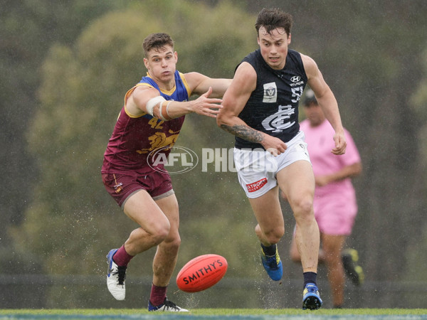
[[[234,165],[236,166],[238,181],[248,198],[258,198],[278,185],[276,174],[281,169],[295,161],[310,161],[305,143],[304,132],[300,131],[289,142],[288,149],[273,156],[264,149],[236,149],[234,148]]]

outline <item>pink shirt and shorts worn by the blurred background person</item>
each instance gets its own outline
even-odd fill
[[[344,166],[360,162],[359,151],[347,130],[344,129],[347,149],[345,154],[337,156],[331,152],[335,132],[328,121],[325,120],[317,127],[310,127],[310,122],[306,119],[300,123],[300,129],[305,133],[315,176],[333,174]],[[352,233],[357,201],[351,178],[334,181],[326,186],[316,186],[313,206],[320,232],[330,235]]]

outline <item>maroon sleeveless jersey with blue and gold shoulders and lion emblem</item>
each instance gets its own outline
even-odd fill
[[[175,72],[175,87],[172,91],[161,90],[147,73],[147,77],[143,77],[135,87],[126,93],[125,105],[127,98],[139,85],[154,87],[166,100],[186,101],[191,95],[182,73]],[[149,166],[150,152],[162,149],[160,152],[167,157],[170,148],[164,147],[174,146],[184,123],[184,118],[185,116],[182,116],[163,121],[147,113],[134,116],[127,112],[125,106],[122,107],[104,154],[102,174],[120,174],[125,171],[143,174],[151,171],[152,169]]]

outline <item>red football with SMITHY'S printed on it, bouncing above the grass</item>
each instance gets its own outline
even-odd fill
[[[200,255],[182,267],[176,276],[176,285],[185,292],[208,289],[227,272],[227,260],[221,255]]]

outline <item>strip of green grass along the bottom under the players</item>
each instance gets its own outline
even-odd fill
[[[147,309],[0,309],[3,319],[427,319],[427,309],[193,309],[186,314]]]

